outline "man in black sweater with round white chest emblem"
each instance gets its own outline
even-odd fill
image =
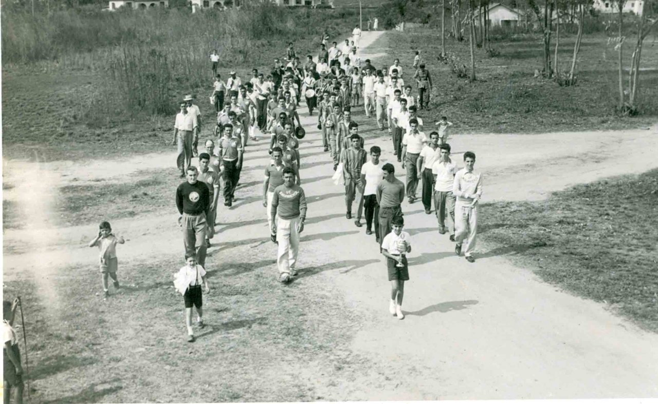
[[[186,174],[187,181],[176,188],[178,226],[183,228],[185,254],[196,257],[197,263],[205,266],[210,192],[205,183],[197,181],[199,171],[195,166],[189,166]]]

